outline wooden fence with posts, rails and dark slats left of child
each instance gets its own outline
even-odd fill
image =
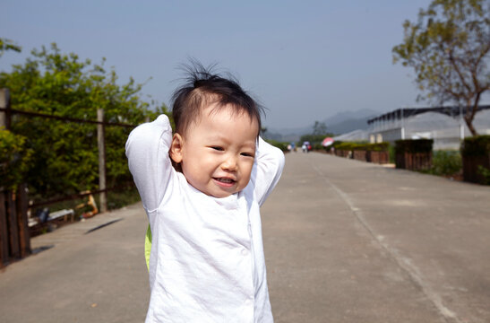
[[[28,118],[56,119],[71,123],[97,125],[99,189],[29,205],[26,192],[27,186],[25,184],[21,185],[16,192],[12,192],[3,190],[0,183],[0,267],[7,265],[13,259],[24,258],[30,254],[30,230],[27,215],[29,208],[50,205],[64,200],[73,200],[91,194],[99,194],[100,212],[107,212],[107,191],[116,188],[106,187],[105,127],[135,127],[135,125],[104,121],[104,111],[102,109],[97,110],[97,121],[11,109],[9,91],[0,89],[0,127],[11,128],[12,116],[15,114],[27,116]]]

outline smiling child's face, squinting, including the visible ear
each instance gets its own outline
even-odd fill
[[[187,182],[202,193],[227,197],[246,187],[254,166],[256,119],[246,113],[214,105],[202,109],[200,119],[184,135],[176,134],[170,155],[180,162]]]

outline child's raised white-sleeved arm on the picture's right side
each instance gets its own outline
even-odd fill
[[[272,189],[279,181],[284,168],[284,153],[279,148],[266,143],[259,137],[256,151],[254,169],[250,181],[254,185],[254,195],[259,205],[271,194]]]

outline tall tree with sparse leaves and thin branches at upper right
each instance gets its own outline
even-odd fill
[[[490,91],[490,0],[433,0],[403,28],[393,61],[415,69],[420,98],[465,107],[466,124],[477,135],[473,119]]]

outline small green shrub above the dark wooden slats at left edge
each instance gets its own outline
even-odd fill
[[[26,141],[26,137],[0,127],[0,190],[15,189],[23,181],[32,153]]]

